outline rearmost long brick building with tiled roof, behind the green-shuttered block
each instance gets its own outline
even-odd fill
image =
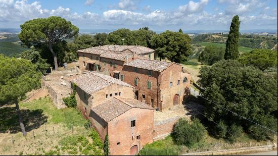
[[[111,76],[119,78],[124,63],[137,58],[154,60],[155,51],[136,45],[103,45],[81,49],[77,53],[81,71],[109,70]]]

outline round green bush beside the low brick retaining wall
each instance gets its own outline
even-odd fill
[[[193,119],[192,123],[185,119],[179,119],[172,131],[175,143],[187,146],[200,142],[205,134],[206,129],[204,125],[196,118]]]

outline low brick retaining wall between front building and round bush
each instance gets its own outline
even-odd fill
[[[156,121],[154,123],[154,141],[164,139],[168,136],[178,119],[178,117],[173,117],[162,121]]]

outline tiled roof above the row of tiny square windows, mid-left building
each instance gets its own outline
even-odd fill
[[[79,88],[81,88],[88,94],[97,92],[105,87],[111,86],[112,83],[126,87],[132,87],[130,84],[125,83],[119,79],[115,79],[109,75],[93,72],[83,74],[82,76],[79,76],[71,80],[71,82],[75,83]]]

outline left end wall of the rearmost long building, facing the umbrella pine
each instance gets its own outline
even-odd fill
[[[83,57],[83,55],[84,55],[84,57]],[[78,52],[78,56],[79,56],[79,59],[78,59],[79,69],[81,71],[89,70],[89,65],[86,63],[86,61],[89,61],[89,60],[95,61],[97,65],[100,65],[100,61],[97,60],[97,57],[100,58],[100,55]],[[85,62],[85,66],[83,65],[83,62]],[[95,66],[94,66],[94,68],[95,68]]]

